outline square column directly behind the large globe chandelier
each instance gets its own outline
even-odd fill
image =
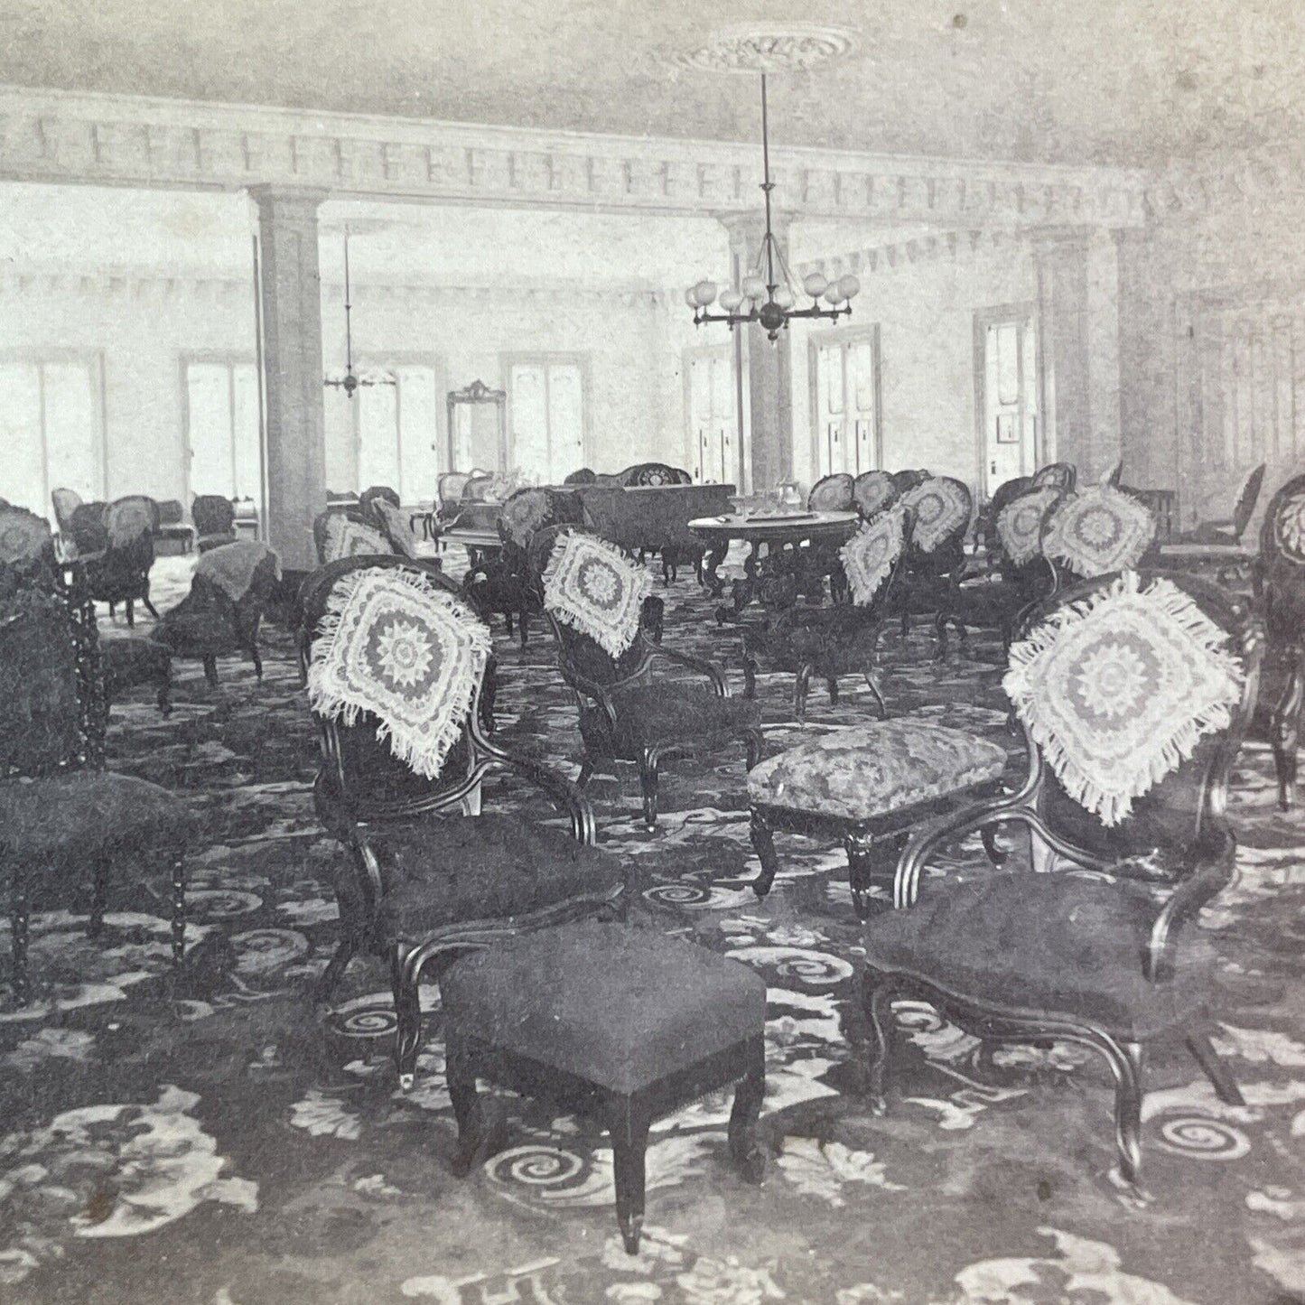
[[[729,232],[729,258],[737,286],[761,248],[766,221],[761,211],[718,214]],[[788,257],[787,214],[776,214],[773,230]],[[778,269],[776,269],[778,275]],[[703,328],[706,330],[706,328]],[[718,330],[723,328],[715,328]],[[788,331],[771,343],[761,326],[735,331],[739,376],[739,438],[750,482],[741,489],[770,489],[793,474],[793,369]]]

